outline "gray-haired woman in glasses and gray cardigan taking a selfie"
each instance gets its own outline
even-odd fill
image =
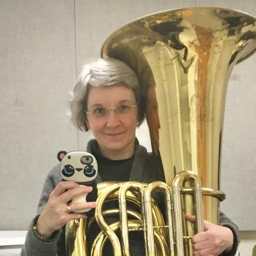
[[[143,122],[144,112],[138,78],[131,68],[113,59],[99,59],[84,66],[70,106],[74,124],[84,131],[90,129],[95,136],[95,140],[89,141],[87,151],[99,164],[98,182],[163,180],[161,168],[154,165],[152,154],[139,145],[135,136],[136,127]],[[65,255],[65,223],[86,218],[84,214],[70,212],[67,204],[74,196],[91,189],[71,181],[61,182],[59,166],[53,168],[45,180],[38,216],[28,230],[22,255]],[[71,204],[70,207],[71,211],[90,209],[95,207],[95,202]],[[194,216],[186,218],[194,221]],[[224,214],[220,219],[222,226],[205,221],[205,232],[193,237],[195,255],[236,253],[237,227]],[[141,237],[135,235],[131,238],[131,255],[143,253]],[[104,255],[107,253],[109,251],[104,251]]]

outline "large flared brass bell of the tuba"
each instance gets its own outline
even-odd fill
[[[255,52],[255,22],[223,8],[171,10],[134,20],[104,42],[103,58],[124,61],[140,77],[152,150],[167,184],[191,170],[203,188],[218,193],[228,79]],[[184,201],[191,213],[193,203]],[[204,196],[203,202],[205,220],[218,223],[219,201]]]

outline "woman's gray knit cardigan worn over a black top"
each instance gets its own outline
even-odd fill
[[[89,141],[87,147],[88,152],[92,152],[93,143],[95,143],[95,140]],[[136,140],[134,161],[132,163],[129,180],[136,180],[141,182],[163,180],[163,172],[159,171],[161,168],[158,168],[155,164],[156,161],[154,161],[152,154],[148,153],[147,149],[139,145],[138,140]],[[63,232],[64,228],[56,231],[54,237],[49,241],[40,240],[32,228],[35,225],[38,216],[44,209],[45,204],[47,204],[49,195],[59,182],[61,182],[61,176],[60,166],[58,165],[55,166],[47,175],[44,188],[42,190],[42,195],[38,203],[37,216],[31,221],[29,225],[26,241],[24,246],[22,246],[21,256],[65,256],[65,237]],[[97,177],[97,182],[102,182],[99,175]],[[236,254],[239,241],[238,228],[236,224],[234,224],[222,212],[220,213],[220,225],[230,228],[234,234],[234,246],[232,252],[225,254],[227,256],[233,256]],[[131,253],[131,255],[133,254]]]

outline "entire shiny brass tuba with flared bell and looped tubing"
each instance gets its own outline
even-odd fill
[[[101,255],[108,239],[115,256],[129,255],[128,232],[138,230],[144,230],[147,255],[193,255],[191,237],[204,229],[204,220],[218,223],[225,198],[220,163],[228,79],[234,65],[255,51],[256,19],[224,8],[155,13],[107,38],[101,56],[122,60],[138,74],[152,151],[166,183],[99,184],[95,217],[66,226],[68,255],[88,255],[94,221],[101,231],[91,255]],[[166,220],[152,191],[164,193]],[[119,200],[119,207],[103,210],[106,200]],[[126,202],[141,211],[127,210]],[[185,220],[186,212],[196,215],[196,227]],[[108,225],[104,217],[113,214],[120,221]]]

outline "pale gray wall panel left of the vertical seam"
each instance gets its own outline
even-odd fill
[[[77,147],[65,116],[76,79],[74,3],[1,1],[1,230],[28,228],[61,148]]]

